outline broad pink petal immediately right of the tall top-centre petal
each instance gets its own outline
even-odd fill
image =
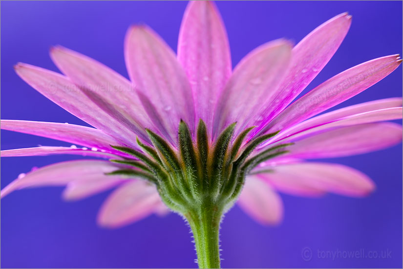
[[[291,57],[292,45],[276,40],[261,45],[235,67],[214,113],[213,134],[237,122],[237,130],[254,125],[276,92]]]

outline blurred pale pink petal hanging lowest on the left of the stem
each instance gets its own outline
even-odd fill
[[[98,224],[117,228],[147,217],[160,206],[161,199],[154,185],[130,180],[116,189],[98,213]]]

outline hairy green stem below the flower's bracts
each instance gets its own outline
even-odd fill
[[[220,268],[221,216],[222,209],[209,202],[185,214],[193,232],[199,268]]]

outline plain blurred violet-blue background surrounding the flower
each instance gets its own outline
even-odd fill
[[[301,40],[320,23],[348,11],[351,29],[314,86],[373,58],[401,53],[401,1],[218,2],[233,64],[257,45],[285,37]],[[25,62],[57,70],[48,57],[61,44],[105,63],[127,77],[123,40],[127,27],[144,22],[174,49],[186,2],[1,1],[1,118],[83,124],[14,73]],[[341,106],[401,96],[402,67]],[[338,106],[337,108],[339,108]],[[67,145],[1,131],[1,149]],[[1,188],[33,166],[78,157],[1,158]],[[402,146],[355,157],[328,159],[360,169],[377,183],[364,199],[328,195],[304,199],[282,195],[284,222],[263,227],[234,207],[222,223],[222,266],[402,267]],[[97,227],[95,217],[107,193],[63,202],[62,188],[17,191],[1,201],[2,268],[189,268],[195,251],[189,227],[177,215],[151,216],[127,227]],[[312,250],[305,261],[301,251]],[[320,258],[318,251],[377,251],[390,256]],[[324,254],[322,254],[324,255]],[[341,255],[341,256],[340,256]]]

